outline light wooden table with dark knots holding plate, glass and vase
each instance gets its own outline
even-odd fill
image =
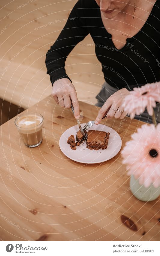
[[[80,109],[84,122],[98,112],[82,102]],[[49,96],[29,110],[44,115],[40,147],[23,144],[15,118],[1,126],[0,239],[158,241],[158,199],[145,203],[132,195],[120,152],[101,164],[76,163],[59,148],[62,132],[76,124],[71,110],[55,106]],[[107,125],[123,147],[142,122],[112,119]]]

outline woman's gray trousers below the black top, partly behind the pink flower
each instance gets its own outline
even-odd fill
[[[106,100],[118,90],[119,89],[114,88],[109,84],[107,84],[107,82],[104,82],[101,91],[96,96],[96,99],[98,100],[98,102],[95,104],[95,106],[98,106],[101,108],[103,104],[106,102]],[[154,111],[155,111],[155,117],[157,119],[157,123],[160,123],[160,104],[159,103],[157,103],[156,108],[154,108]],[[148,112],[146,109],[141,115],[135,115],[134,119],[152,124],[152,117],[148,115]]]

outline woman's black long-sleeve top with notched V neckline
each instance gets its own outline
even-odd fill
[[[160,81],[160,0],[155,2],[142,29],[128,38],[120,50],[105,29],[95,0],[79,0],[46,55],[47,74],[52,84],[60,78],[70,79],[65,72],[65,60],[89,33],[108,84],[131,90],[133,85]]]

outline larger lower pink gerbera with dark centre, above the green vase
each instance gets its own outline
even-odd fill
[[[122,150],[128,175],[139,179],[140,185],[160,186],[160,124],[142,125],[132,134],[131,141]]]

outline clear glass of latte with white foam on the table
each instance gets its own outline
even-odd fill
[[[27,147],[37,147],[42,142],[43,115],[27,112],[18,115],[15,125]]]

